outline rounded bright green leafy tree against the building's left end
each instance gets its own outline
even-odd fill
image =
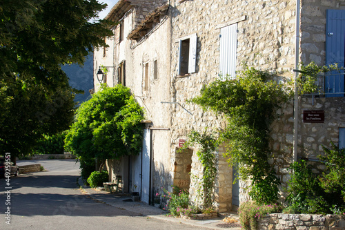
[[[143,139],[142,119],[143,110],[129,88],[103,85],[78,108],[65,145],[83,164],[93,162],[96,157],[106,160],[136,155]]]

